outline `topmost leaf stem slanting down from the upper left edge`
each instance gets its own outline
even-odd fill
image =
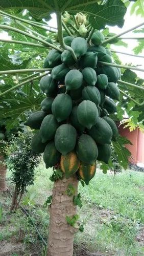
[[[29,25],[31,25],[31,26],[35,26],[35,27],[38,27],[38,28],[41,28],[41,29],[45,29],[45,30],[49,30],[50,32],[56,33],[56,31],[53,31],[53,30],[50,30],[50,29],[49,29],[49,28],[51,28],[49,25],[42,24],[42,23],[35,23],[35,22],[33,22],[32,20],[27,20],[27,19],[19,18],[19,17],[17,17],[17,16],[11,15],[11,14],[6,13],[6,12],[3,12],[3,11],[1,11],[1,10],[0,10],[0,14],[1,14],[2,16],[8,16],[8,17],[10,17],[10,18],[12,18],[12,19],[17,19],[17,20],[19,20],[20,22],[27,23],[27,24],[29,24]],[[44,27],[42,27],[42,26],[46,26],[46,27],[49,27],[49,28],[44,28]]]

